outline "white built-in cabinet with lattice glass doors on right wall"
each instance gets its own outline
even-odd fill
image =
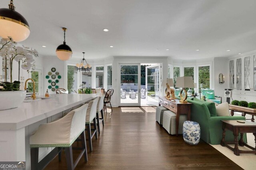
[[[256,54],[229,61],[229,88],[233,100],[255,102],[256,98]]]

